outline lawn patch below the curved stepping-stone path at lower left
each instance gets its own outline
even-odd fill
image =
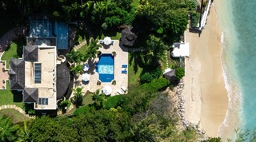
[[[30,120],[30,118],[24,116],[22,113],[18,112],[17,110],[15,110],[14,108],[6,108],[6,109],[2,109],[0,111],[0,116],[10,116],[13,119],[13,122],[19,123],[19,122],[23,122],[25,120]]]

